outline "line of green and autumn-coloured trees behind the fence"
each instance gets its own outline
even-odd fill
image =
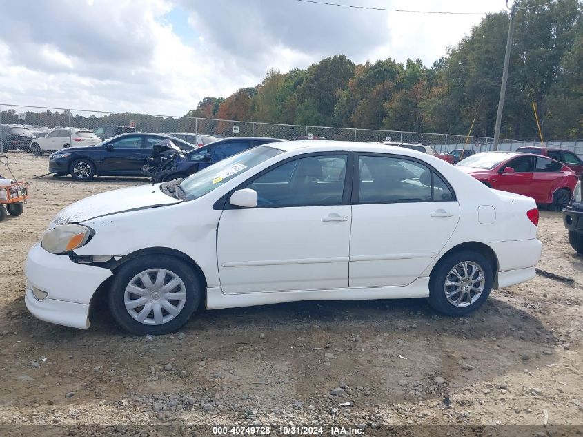
[[[583,138],[583,2],[517,0],[501,136]],[[189,117],[493,137],[507,12],[488,14],[431,67],[344,55],[305,70],[269,70],[261,84],[205,97]],[[438,31],[436,29],[436,31]],[[414,34],[414,30],[413,30]],[[415,37],[412,34],[412,37]]]

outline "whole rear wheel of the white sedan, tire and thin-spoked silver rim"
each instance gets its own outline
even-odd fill
[[[439,261],[429,280],[431,307],[446,315],[471,313],[484,304],[493,283],[493,266],[475,251],[458,251]]]

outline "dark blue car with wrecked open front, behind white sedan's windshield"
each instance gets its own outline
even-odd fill
[[[181,177],[188,177],[211,164],[215,164],[215,162],[221,161],[221,159],[235,155],[243,150],[277,141],[283,141],[283,139],[265,137],[219,139],[217,142],[199,147],[188,153],[176,153],[172,159],[166,159],[164,164],[157,168],[153,175],[151,175],[151,171],[147,168],[144,168],[142,173],[144,175],[151,175],[151,182],[166,182]]]

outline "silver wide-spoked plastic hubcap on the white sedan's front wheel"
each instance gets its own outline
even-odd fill
[[[144,270],[130,280],[123,295],[123,303],[132,318],[140,323],[168,323],[184,308],[186,287],[172,271]]]

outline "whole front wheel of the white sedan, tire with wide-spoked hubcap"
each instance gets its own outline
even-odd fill
[[[188,322],[201,294],[201,282],[192,266],[168,255],[146,255],[116,271],[109,307],[126,331],[138,336],[163,335]]]

